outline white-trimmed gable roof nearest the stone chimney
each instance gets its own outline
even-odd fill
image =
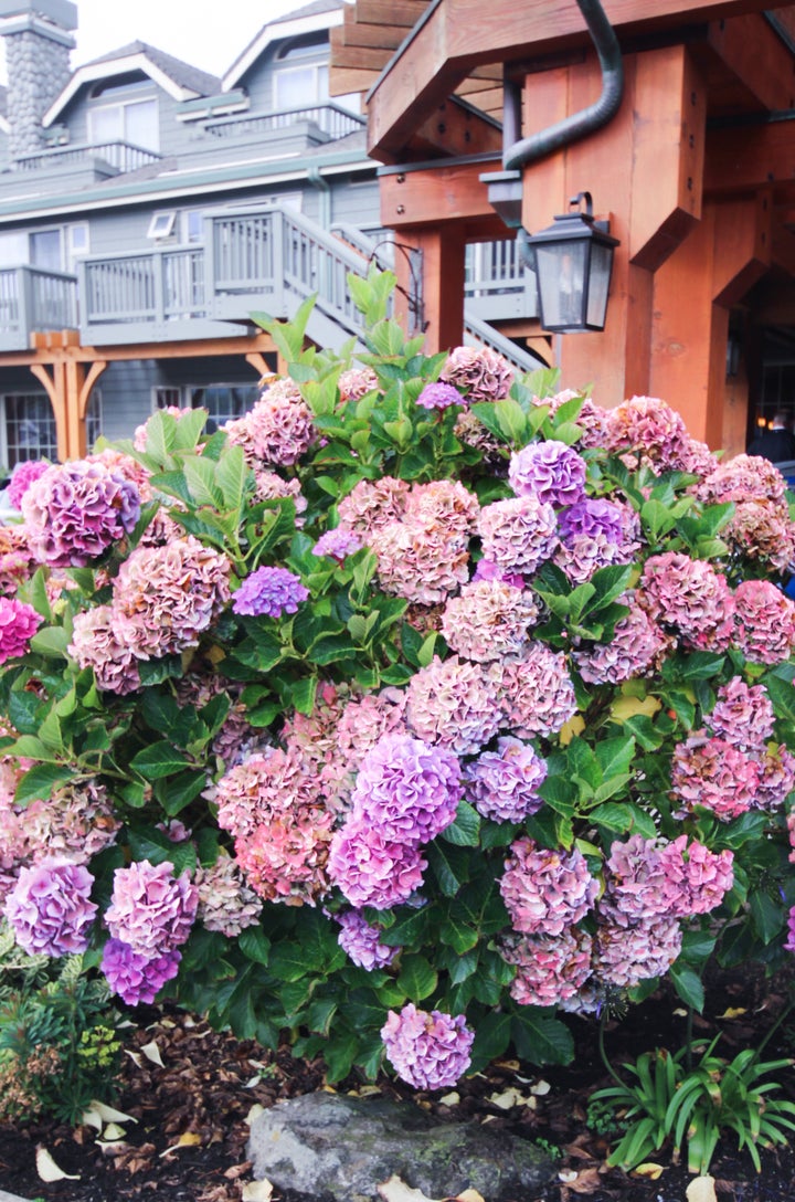
[[[149,46],[147,42],[130,42],[118,50],[102,54],[90,63],[84,63],[73,72],[71,79],[44,113],[44,129],[62,113],[64,108],[86,83],[98,79],[112,79],[113,76],[128,71],[143,71],[154,83],[159,84],[174,100],[195,100],[198,96],[213,96],[220,91],[221,81],[207,71],[175,59],[166,50]]]

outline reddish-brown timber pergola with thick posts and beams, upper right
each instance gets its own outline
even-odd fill
[[[745,448],[761,331],[795,327],[795,6],[603,0],[623,91],[615,115],[521,167],[530,232],[593,196],[620,239],[602,333],[555,335],[563,386],[614,405],[658,395],[693,435]],[[575,0],[355,0],[333,31],[334,91],[366,90],[384,226],[423,249],[431,350],[462,338],[464,245],[509,237],[484,174],[501,169],[506,82],[521,138],[598,101]],[[461,101],[464,101],[461,103]],[[729,334],[746,355],[727,374]]]

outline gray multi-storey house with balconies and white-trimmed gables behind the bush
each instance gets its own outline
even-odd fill
[[[329,99],[342,8],[265,25],[219,79],[144,42],[72,71],[71,0],[0,0],[5,468],[128,436],[157,406],[239,416],[277,368],[252,311],[315,293],[310,338],[357,333],[347,274],[390,246],[360,97]],[[473,337],[510,353],[478,316],[527,313],[532,280],[506,246],[472,262]]]

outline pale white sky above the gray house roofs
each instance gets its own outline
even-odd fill
[[[77,0],[79,67],[127,42],[149,42],[222,76],[263,25],[306,0]],[[0,83],[6,82],[0,54]]]

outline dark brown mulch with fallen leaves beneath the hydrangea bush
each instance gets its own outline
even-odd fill
[[[710,990],[715,1002],[711,1012],[725,1014],[731,1007],[742,1013],[697,1019],[697,1034],[711,1037],[722,1030],[721,1047],[727,1054],[759,1042],[785,1002],[783,992],[771,990],[764,982],[722,981],[717,989],[717,995],[716,986]],[[676,1010],[676,999],[660,990],[630,1010],[622,1023],[611,1023],[608,1051],[614,1063],[634,1060],[641,1051],[654,1047],[681,1046],[685,1019]],[[89,1126],[0,1125],[0,1188],[47,1202],[240,1202],[245,1184],[251,1182],[246,1161],[251,1107],[329,1088],[321,1063],[294,1060],[287,1048],[274,1054],[171,1010],[147,1011],[143,1017],[136,1013],[136,1018],[141,1025],[128,1034],[116,1105],[138,1121],[124,1124],[124,1142],[102,1149],[97,1131]],[[573,1029],[576,1058],[566,1069],[506,1060],[462,1081],[458,1101],[442,1094],[420,1096],[419,1102],[441,1119],[489,1121],[560,1149],[561,1176],[544,1192],[514,1202],[575,1202],[580,1197],[593,1202],[686,1202],[691,1177],[670,1150],[652,1158],[663,1166],[656,1180],[606,1168],[609,1141],[585,1124],[588,1095],[608,1083],[597,1054],[596,1027],[575,1019]],[[795,1031],[784,1025],[766,1057],[793,1052]],[[162,1066],[150,1059],[157,1054]],[[795,1100],[795,1076],[785,1084]],[[337,1088],[360,1085],[351,1079]],[[393,1096],[411,1096],[385,1077],[378,1087]],[[506,1109],[503,1095],[512,1088],[521,1100]],[[79,1174],[79,1180],[43,1182],[36,1171],[37,1147],[46,1148],[65,1172]],[[737,1155],[727,1141],[711,1172],[718,1202],[795,1202],[795,1148],[764,1153],[763,1172],[757,1174],[751,1160]],[[274,1202],[317,1200],[277,1190]]]

